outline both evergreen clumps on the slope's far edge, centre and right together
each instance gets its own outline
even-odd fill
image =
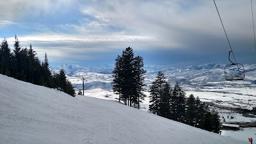
[[[113,91],[119,95],[120,102],[140,109],[140,102],[146,97],[143,93],[146,73],[143,69],[143,58],[134,57],[132,48],[127,47],[115,61]],[[218,113],[211,111],[198,97],[189,95],[186,98],[185,95],[178,83],[172,89],[164,74],[158,72],[156,81],[150,86],[149,111],[170,120],[219,133]]]

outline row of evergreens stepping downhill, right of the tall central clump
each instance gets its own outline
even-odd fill
[[[186,93],[178,83],[173,90],[166,81],[164,74],[158,72],[156,81],[150,87],[149,111],[164,118],[182,122],[211,132],[220,132],[218,113],[210,111],[209,107],[197,97]]]

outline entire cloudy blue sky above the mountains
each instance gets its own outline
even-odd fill
[[[216,0],[237,63],[256,63],[250,0]],[[256,2],[253,1],[256,19]],[[256,21],[255,21],[256,23]],[[229,63],[212,0],[9,0],[0,5],[0,38],[33,46],[50,65],[105,65],[126,47],[145,65]]]

